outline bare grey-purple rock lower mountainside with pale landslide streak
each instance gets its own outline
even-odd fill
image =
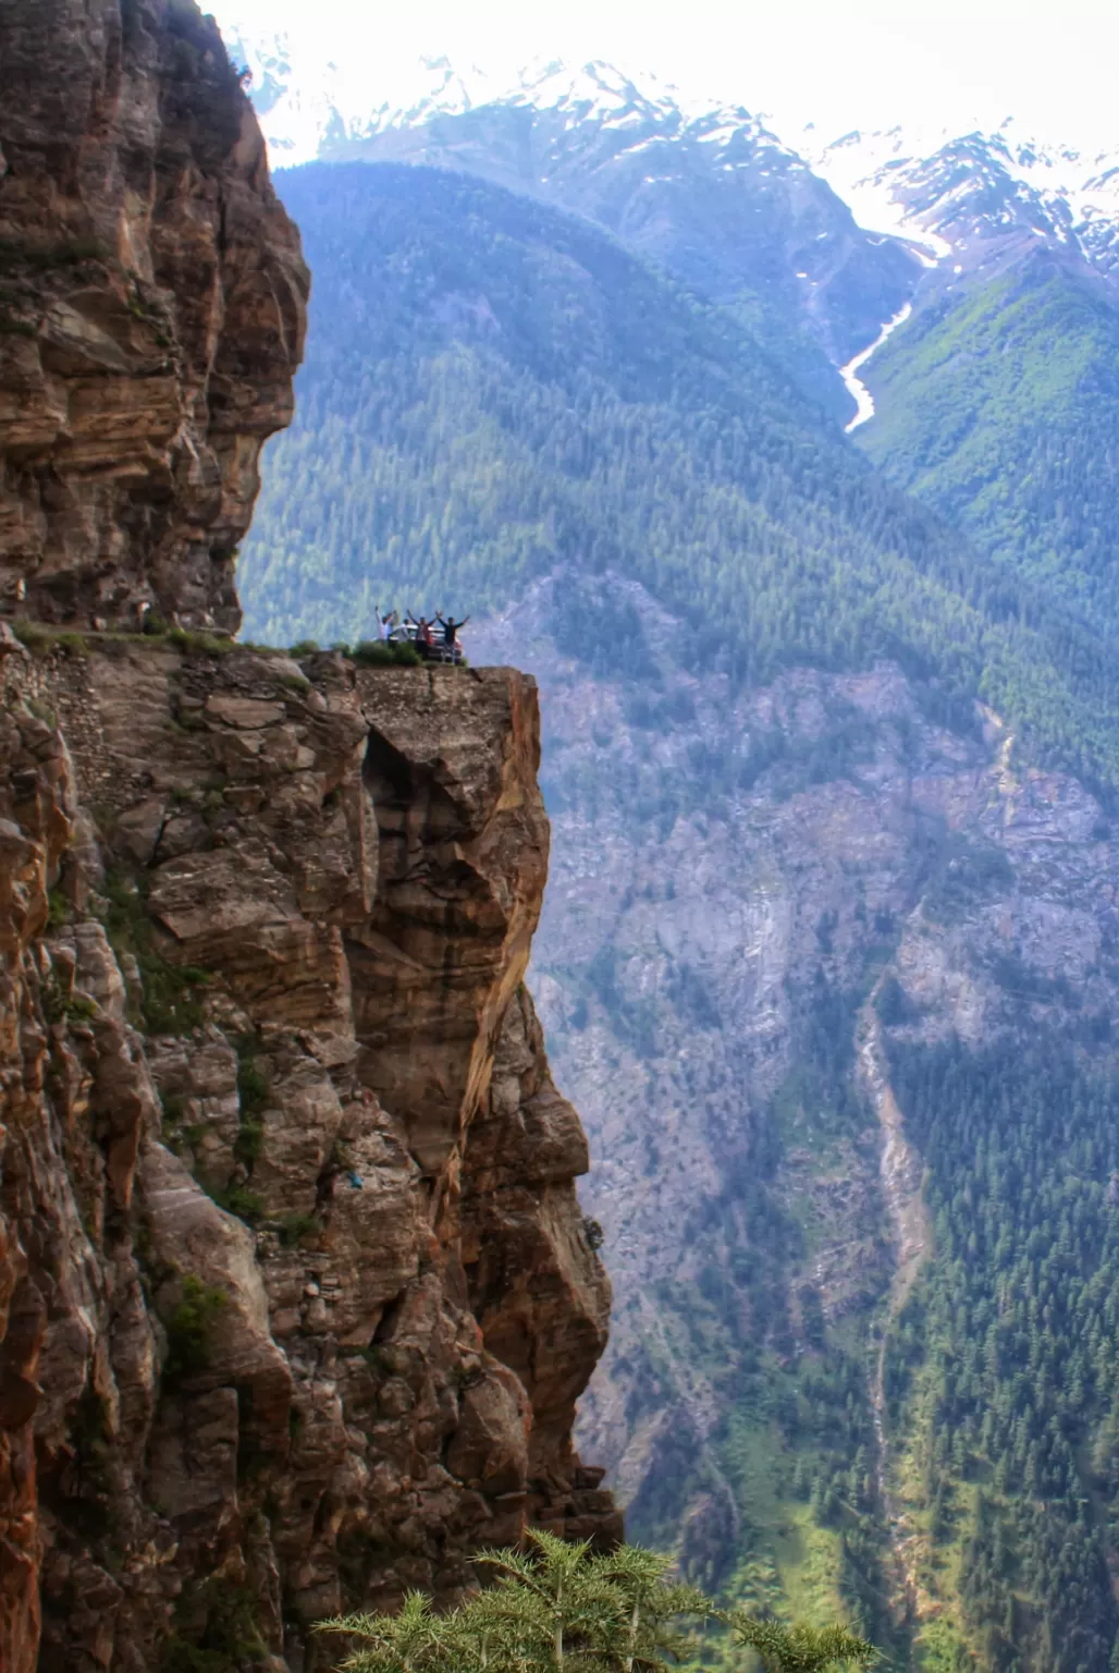
[[[703,669],[644,693],[594,674],[554,639],[557,594],[575,584],[540,584],[477,649],[515,646],[547,716],[555,860],[534,985],[590,1133],[582,1195],[616,1295],[582,1444],[611,1461],[632,1537],[677,1543],[692,1573],[753,1606],[826,1618],[840,1596],[892,1663],[938,1666],[970,1624],[955,1553],[984,1479],[970,1461],[957,1474],[952,1422],[970,1400],[943,1365],[984,1348],[962,1273],[1005,1184],[985,1178],[997,1136],[982,1121],[953,1131],[972,1076],[1005,1081],[1034,1166],[1079,1200],[1087,1241],[1065,1283],[1094,1273],[1101,1308],[1114,1295],[1114,825],[1072,775],[1015,765],[994,711],[937,723],[890,663],[789,669],[746,693]],[[676,619],[614,586],[666,669]],[[759,739],[734,785],[733,751]],[[1069,1166],[1074,1059],[1107,1159]],[[920,1108],[925,1074],[948,1143]],[[938,1178],[955,1144],[962,1236]],[[1007,1240],[1030,1226],[1024,1196]],[[1007,1335],[982,1389],[1005,1400],[1010,1308],[990,1243],[985,1258],[970,1280],[980,1320],[1004,1308]],[[1060,1313],[1062,1285],[1050,1295]],[[1109,1377],[1111,1352],[1092,1377]],[[1059,1363],[1042,1375],[1064,1382]],[[1077,1414],[1082,1432],[1091,1420]],[[997,1459],[997,1439],[977,1454]],[[948,1509],[933,1519],[937,1497]],[[1007,1497],[992,1494],[992,1521]],[[1055,1487],[1039,1499],[1035,1524],[1067,1544]],[[1074,1537],[1106,1544],[1106,1529]],[[1070,1628],[1059,1584],[1042,1609]],[[1106,1584],[1079,1608],[1084,1636],[1104,1636]]]

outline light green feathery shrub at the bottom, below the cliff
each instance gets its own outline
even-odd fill
[[[437,1614],[413,1591],[398,1614],[350,1614],[319,1631],[356,1641],[340,1663],[350,1673],[667,1673],[686,1666],[696,1628],[731,1630],[766,1673],[826,1673],[866,1668],[876,1651],[845,1626],[786,1628],[724,1614],[694,1586],[667,1579],[671,1558],[637,1546],[592,1553],[532,1531],[530,1549],[487,1551],[495,1584],[458,1609]],[[689,1630],[691,1628],[691,1630]]]

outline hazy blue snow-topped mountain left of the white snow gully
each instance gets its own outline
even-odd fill
[[[846,204],[741,104],[687,99],[652,75],[564,62],[493,82],[422,60],[398,104],[316,65],[306,45],[246,30],[278,161],[457,169],[585,216],[766,335],[769,353],[833,417],[851,417],[835,366],[873,341],[920,274],[903,241]]]

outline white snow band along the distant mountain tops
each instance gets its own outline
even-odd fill
[[[729,154],[738,157],[741,147],[754,179],[808,166],[858,226],[900,238],[925,268],[952,254],[945,234],[1015,226],[1079,246],[1106,268],[1119,264],[1119,147],[1040,144],[1009,119],[995,130],[897,125],[850,132],[831,144],[808,127],[791,149],[738,104],[604,60],[537,60],[510,79],[447,57],[371,55],[360,50],[356,25],[353,38],[318,32],[311,7],[291,33],[238,27],[236,3],[221,5],[226,40],[234,60],[253,70],[251,92],[278,164],[308,162],[331,154],[340,141],[423,129],[437,117],[502,102],[554,112],[569,130],[584,122],[619,134],[632,129],[641,146],[649,136],[691,139],[711,147],[713,164],[723,169],[729,164],[718,152],[734,144]]]

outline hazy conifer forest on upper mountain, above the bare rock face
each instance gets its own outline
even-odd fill
[[[883,485],[731,316],[462,176],[311,166],[284,191],[314,320],[244,549],[256,637],[353,642],[378,604],[480,612],[560,572],[557,639],[654,679],[626,602],[590,604],[622,574],[687,666],[895,657],[957,723],[982,696],[1119,781],[1111,639]]]

